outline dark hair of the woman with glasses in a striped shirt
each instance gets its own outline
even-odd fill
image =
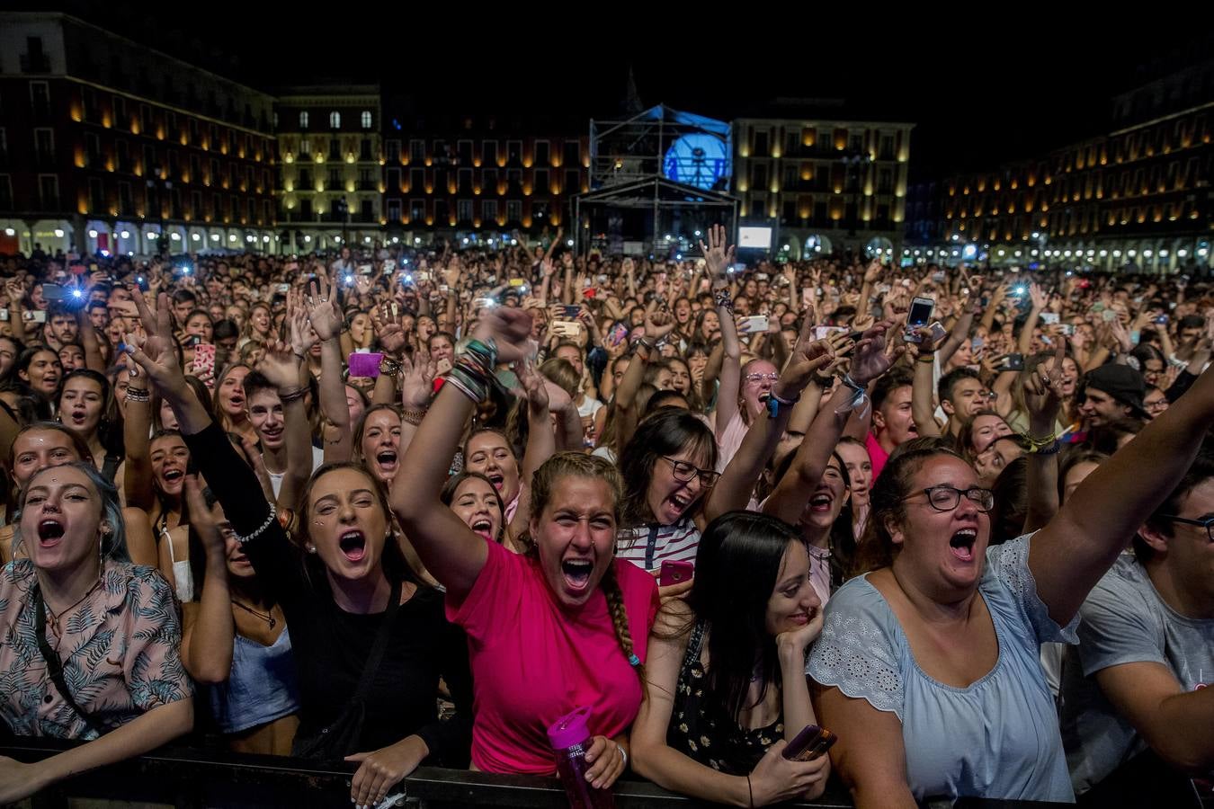
[[[677,455],[687,449],[703,452],[705,466],[716,468],[716,437],[694,414],[663,408],[636,426],[636,432],[619,456],[619,471],[624,475],[622,525],[636,526],[653,520],[648,503],[653,467],[663,456]],[[705,496],[707,492],[702,492],[683,515],[696,515]]]

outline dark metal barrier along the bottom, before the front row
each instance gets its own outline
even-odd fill
[[[42,739],[0,744],[0,756],[34,762],[70,745]],[[148,756],[86,773],[45,790],[30,801],[32,809],[67,809],[107,802],[107,807],[148,804],[180,809],[306,809],[350,807],[353,768],[314,762],[229,752],[164,747]],[[419,768],[404,784],[410,807],[464,809],[466,807],[527,807],[568,809],[556,779],[531,775],[492,775],[467,770]],[[647,781],[620,781],[614,787],[619,809],[692,809],[716,805],[666,792]],[[807,803],[783,804],[850,809],[851,801],[838,782],[827,794]],[[966,809],[1033,809],[1060,804],[964,799]]]

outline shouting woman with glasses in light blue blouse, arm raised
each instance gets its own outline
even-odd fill
[[[1048,387],[1056,406],[1053,371]],[[1212,423],[1207,372],[1043,529],[989,549],[993,496],[964,458],[924,449],[891,460],[861,546],[870,572],[830,599],[807,668],[817,716],[839,735],[833,763],[860,809],[1074,799],[1039,646],[1074,643],[1079,605]]]

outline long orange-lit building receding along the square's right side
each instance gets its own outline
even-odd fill
[[[1208,267],[1212,137],[1214,61],[1116,97],[1106,133],[917,187],[910,256],[969,247],[1002,264]]]

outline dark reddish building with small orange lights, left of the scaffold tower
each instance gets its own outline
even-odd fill
[[[388,239],[432,234],[467,243],[515,230],[568,229],[569,200],[588,188],[585,123],[495,115],[385,113]]]

